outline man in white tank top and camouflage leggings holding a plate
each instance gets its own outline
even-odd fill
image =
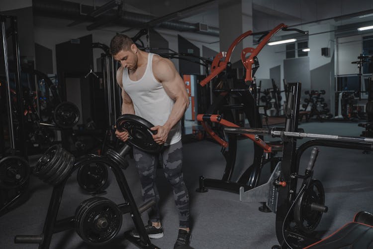
[[[189,102],[185,83],[169,60],[137,48],[131,38],[115,35],[110,42],[110,53],[120,62],[116,80],[122,89],[122,114],[140,116],[155,126],[154,141],[164,144],[160,153],[166,179],[174,190],[179,211],[179,234],[174,249],[189,246],[189,196],[182,173],[183,151],[181,123]],[[116,130],[116,136],[126,141],[128,132]],[[163,237],[159,214],[159,194],[155,184],[158,155],[133,148],[136,167],[140,175],[144,202],[155,200],[149,212],[149,225],[145,229],[149,238]],[[139,237],[137,231],[132,235]]]

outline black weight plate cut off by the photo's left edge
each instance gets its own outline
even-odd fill
[[[0,187],[18,188],[30,177],[28,162],[18,156],[6,156],[0,160]]]

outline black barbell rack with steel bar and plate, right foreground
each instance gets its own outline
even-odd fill
[[[373,138],[299,132],[301,84],[289,83],[289,87],[289,103],[285,109],[287,118],[285,128],[224,128],[227,133],[271,135],[280,137],[283,141],[282,161],[276,166],[269,181],[251,190],[240,188],[241,201],[265,202],[268,208],[276,213],[276,235],[280,246],[274,246],[273,249],[301,249],[320,241],[314,236],[315,233],[313,232],[317,228],[322,214],[327,212],[328,208],[324,206],[325,192],[322,183],[312,178],[313,166],[318,153],[318,149],[314,146],[373,150]],[[296,139],[303,137],[314,139],[304,142],[297,148]],[[309,147],[314,148],[305,173],[301,175],[298,173],[299,161],[303,152]],[[303,181],[297,191],[298,179]],[[372,226],[373,223],[369,224]],[[351,230],[350,232],[345,230],[345,234],[340,235],[341,239],[339,241],[347,237],[354,243],[367,240],[362,236],[367,230],[358,229],[355,231],[357,232],[351,233]],[[338,243],[338,240],[334,242]],[[319,245],[322,245],[322,243],[319,242]],[[317,245],[315,244],[315,248],[318,248]],[[333,245],[324,245],[324,247],[320,246],[319,248],[335,248]],[[313,246],[309,248],[313,248]]]

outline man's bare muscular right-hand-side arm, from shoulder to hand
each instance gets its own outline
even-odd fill
[[[162,83],[167,95],[175,101],[168,120],[162,125],[165,130],[160,130],[157,128],[158,133],[154,140],[161,141],[162,143],[162,141],[166,141],[167,135],[171,128],[183,117],[189,105],[189,98],[185,83],[180,77],[179,73],[176,71],[176,68],[171,60],[160,58],[153,65],[153,73],[155,78]],[[160,132],[162,133],[159,134]]]

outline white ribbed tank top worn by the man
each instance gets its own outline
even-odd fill
[[[154,125],[163,125],[168,120],[175,102],[153,75],[153,55],[149,53],[145,73],[140,80],[132,81],[128,76],[128,70],[124,69],[122,82],[124,91],[132,100],[135,115]],[[171,128],[165,145],[177,143],[181,138],[181,122],[179,121]]]

